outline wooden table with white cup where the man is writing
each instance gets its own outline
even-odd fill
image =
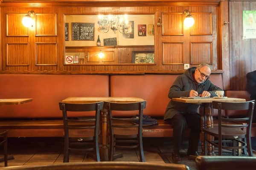
[[[239,98],[205,98],[205,99],[188,99],[188,98],[172,98],[175,102],[183,103],[193,103],[200,105],[199,113],[201,116],[201,129],[204,127],[213,127],[213,118],[212,118],[212,101],[220,102],[245,102],[245,99]],[[210,138],[210,137],[209,137]],[[201,155],[204,155],[204,133],[201,133]],[[208,144],[208,155],[213,154],[214,147],[212,144]]]

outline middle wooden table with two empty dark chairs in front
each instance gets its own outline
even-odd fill
[[[62,100],[64,103],[93,103],[93,102],[142,102],[141,98],[137,97],[68,97]],[[105,105],[104,105],[105,106]],[[107,131],[108,119],[106,108],[102,109],[102,148],[101,161],[108,161],[108,146],[107,146]]]

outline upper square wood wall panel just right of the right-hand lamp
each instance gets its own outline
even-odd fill
[[[195,24],[190,28],[191,35],[212,35],[212,13],[196,12],[191,13]]]

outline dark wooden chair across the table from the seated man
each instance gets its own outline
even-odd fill
[[[248,102],[212,102],[212,107],[218,109],[218,125],[203,128],[205,154],[207,154],[207,142],[209,142],[218,147],[219,156],[222,155],[222,149],[233,150],[233,156],[236,155],[236,150],[239,151],[239,156],[241,156],[241,149],[247,149],[249,156],[253,156],[250,133],[254,103],[255,100]],[[221,116],[221,110],[247,110],[247,114],[241,116],[241,118],[224,118]],[[245,127],[246,129],[244,129]],[[208,135],[217,137],[218,141],[207,139]],[[224,145],[227,142],[232,142],[233,146]]]

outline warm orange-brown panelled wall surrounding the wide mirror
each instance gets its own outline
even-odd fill
[[[38,0],[33,3],[28,0],[23,3],[2,0],[1,73],[182,73],[184,64],[196,66],[207,62],[212,65],[213,72],[223,71],[224,87],[229,88],[228,29],[222,24],[223,18],[228,16],[227,2],[128,1],[131,2]],[[195,18],[195,25],[190,29],[183,26],[185,9],[189,9]],[[30,10],[36,14],[35,26],[26,29],[21,19]],[[110,12],[154,14],[155,64],[65,65],[64,15]],[[157,27],[159,17],[162,27]]]

